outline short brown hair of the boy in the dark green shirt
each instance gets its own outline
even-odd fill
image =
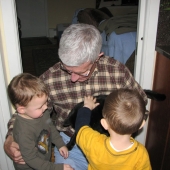
[[[48,95],[46,85],[36,76],[22,73],[15,76],[8,85],[8,96],[14,107],[27,106],[34,96]]]

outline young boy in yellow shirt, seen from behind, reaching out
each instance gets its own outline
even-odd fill
[[[106,98],[101,124],[110,137],[88,126],[97,105],[95,98],[85,97],[75,124],[76,143],[88,159],[88,170],[151,170],[146,148],[131,137],[145,123],[145,103],[138,92],[120,89]]]

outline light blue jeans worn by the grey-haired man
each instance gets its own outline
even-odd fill
[[[63,138],[64,143],[68,143],[70,141],[70,137],[68,137],[63,132],[60,132],[61,137]],[[64,163],[69,164],[74,170],[87,170],[87,159],[85,158],[81,149],[75,145],[71,151],[69,151],[69,156],[67,159],[64,159],[58,149],[55,147],[54,149],[55,155],[55,163]]]

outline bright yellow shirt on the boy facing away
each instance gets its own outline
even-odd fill
[[[88,170],[151,170],[146,148],[131,138],[134,143],[130,149],[116,152],[110,146],[110,138],[83,126],[76,142],[86,155]]]

